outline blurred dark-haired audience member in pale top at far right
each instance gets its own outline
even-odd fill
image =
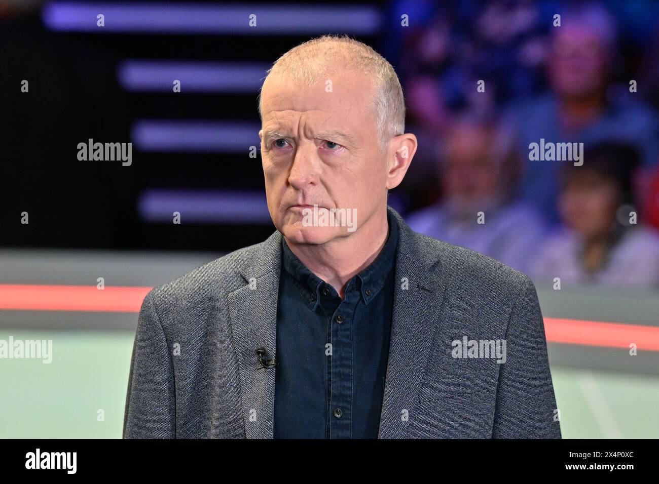
[[[536,283],[659,284],[659,232],[630,223],[636,211],[637,151],[608,142],[588,149],[583,166],[563,163],[559,212],[530,276]]]

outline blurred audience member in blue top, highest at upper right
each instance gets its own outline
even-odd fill
[[[619,67],[614,18],[598,3],[564,11],[554,27],[548,61],[552,93],[512,109],[521,146],[546,142],[618,140],[632,144],[646,167],[656,163],[654,112],[633,101],[629,86],[614,92],[611,78]],[[588,163],[588,162],[586,162]],[[556,161],[527,161],[521,195],[552,223],[556,210]]]

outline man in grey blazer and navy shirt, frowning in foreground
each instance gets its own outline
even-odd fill
[[[391,65],[308,41],[260,112],[277,231],[146,296],[124,436],[560,437],[529,278],[387,207],[416,150]]]

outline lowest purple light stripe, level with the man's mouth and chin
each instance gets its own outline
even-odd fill
[[[147,222],[172,223],[181,213],[181,223],[272,223],[265,192],[208,190],[144,190],[138,200],[140,218]]]

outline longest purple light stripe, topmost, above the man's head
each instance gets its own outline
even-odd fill
[[[105,16],[105,26],[96,16]],[[256,26],[250,27],[250,15]],[[376,34],[381,14],[370,5],[239,5],[208,3],[92,3],[51,1],[42,10],[51,30],[171,34]],[[228,46],[224,46],[226,48]]]

